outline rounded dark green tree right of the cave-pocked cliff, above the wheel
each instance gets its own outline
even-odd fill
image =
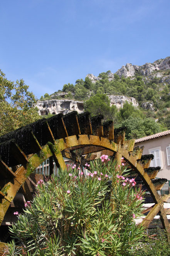
[[[114,105],[110,106],[110,100],[106,94],[97,93],[91,96],[85,102],[84,109],[89,111],[92,116],[102,114],[105,121],[116,120],[117,108]]]

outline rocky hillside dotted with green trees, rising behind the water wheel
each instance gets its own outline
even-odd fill
[[[118,126],[130,116],[138,116],[143,119],[153,118],[164,127],[162,129],[170,129],[170,57],[156,60],[153,63],[145,63],[142,66],[127,63],[116,73],[109,70],[100,73],[98,77],[88,74],[84,80],[77,79],[75,84],[64,84],[62,90],[50,96],[46,93],[40,98],[37,106],[39,110],[43,108],[42,114],[57,114],[58,112],[54,111],[55,106],[60,106],[60,113],[64,114],[72,110],[82,112],[84,108],[92,115],[100,114],[102,111],[93,111],[98,103],[90,109],[96,100],[96,95],[100,95],[97,100],[99,102],[104,101],[102,95],[107,95],[108,99],[105,99],[105,102],[108,106],[120,109],[116,112],[114,108],[111,112],[111,118]],[[133,109],[130,110],[130,106],[126,105],[126,110],[123,110],[123,104],[125,105],[126,101]],[[54,107],[53,111],[49,106]],[[103,113],[108,113],[108,111],[111,110],[107,109]],[[108,115],[107,119],[110,116]]]

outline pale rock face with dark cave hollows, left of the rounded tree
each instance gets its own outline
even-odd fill
[[[47,114],[67,114],[73,110],[76,110],[78,113],[84,111],[83,102],[81,101],[72,101],[69,99],[52,99],[47,101],[37,101],[36,107],[39,109],[39,115]]]

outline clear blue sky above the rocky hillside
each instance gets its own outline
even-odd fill
[[[0,0],[0,69],[40,98],[170,56],[170,0]]]

